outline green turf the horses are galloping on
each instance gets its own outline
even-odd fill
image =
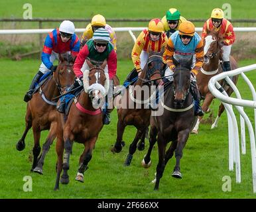
[[[85,182],[81,184],[74,180],[78,169],[78,158],[83,151],[82,144],[74,144],[73,154],[70,157],[70,184],[60,185],[60,191],[53,191],[55,173],[55,142],[50,148],[44,163],[44,175],[33,174],[31,169],[32,132],[26,138],[26,148],[18,152],[16,142],[21,138],[25,127],[26,103],[23,96],[32,77],[34,76],[39,60],[0,60],[0,198],[255,198],[252,191],[251,155],[249,138],[247,138],[247,154],[241,155],[241,184],[235,183],[235,172],[228,170],[227,145],[227,117],[225,113],[220,119],[217,129],[211,130],[210,124],[200,125],[198,135],[191,134],[184,148],[181,160],[182,180],[170,176],[174,168],[172,158],[160,180],[159,191],[153,191],[153,184],[157,165],[157,146],[153,149],[151,168],[141,167],[141,160],[146,153],[135,152],[131,166],[124,167],[129,144],[135,135],[134,127],[127,127],[124,140],[126,146],[119,154],[110,151],[116,136],[116,111],[111,113],[111,125],[103,127],[96,142],[93,158],[89,170],[85,173]],[[253,64],[253,60],[241,61],[239,66]],[[129,60],[119,60],[118,76],[121,81],[131,70]],[[254,72],[246,74],[255,84]],[[239,80],[239,91],[244,98],[251,99],[249,89],[243,80]],[[212,105],[214,117],[218,111],[219,101]],[[253,117],[253,109],[246,110]],[[253,119],[251,119],[253,120]],[[248,133],[247,133],[248,134]],[[41,146],[47,132],[42,132]],[[146,142],[146,149],[149,146]],[[23,191],[23,177],[32,177],[32,192]],[[222,177],[230,176],[232,180],[231,192],[222,191]]]

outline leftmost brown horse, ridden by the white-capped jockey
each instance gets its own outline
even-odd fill
[[[74,58],[70,54],[59,54],[58,68],[40,87],[38,92],[34,93],[31,101],[27,103],[27,113],[25,116],[26,127],[23,136],[17,142],[16,148],[21,151],[25,148],[25,137],[32,127],[34,136],[33,162],[31,171],[42,174],[42,165],[46,153],[50,149],[50,145],[56,138],[56,101],[52,101],[56,97],[72,85],[74,82],[73,64]],[[42,154],[40,154],[40,132],[49,130],[46,142],[42,146]],[[38,163],[37,163],[38,162]],[[37,164],[37,166],[36,166]]]

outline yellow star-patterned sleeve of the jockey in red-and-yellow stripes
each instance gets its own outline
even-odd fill
[[[141,70],[141,52],[143,50],[143,47],[145,46],[145,40],[143,37],[145,36],[144,32],[141,32],[139,34],[134,46],[133,50],[131,51],[131,59],[133,60],[133,64],[136,68],[136,70]]]

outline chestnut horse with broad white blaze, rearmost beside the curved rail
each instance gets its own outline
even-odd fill
[[[210,78],[213,76],[216,76],[217,74],[220,74],[223,72],[222,64],[220,63],[220,60],[222,60],[222,37],[219,36],[216,32],[209,32],[208,36],[205,38],[205,46],[204,46],[204,64],[202,66],[202,69],[198,74],[196,75],[196,83],[198,85],[198,89],[201,93],[201,97],[204,98],[204,102],[202,105],[202,110],[205,113],[210,112],[210,104],[212,103],[212,100],[214,99],[214,95],[210,92],[208,88],[208,82]],[[235,62],[235,59],[230,56],[230,64],[231,64],[231,70],[234,70],[237,68],[237,62]],[[237,83],[238,76],[233,76],[233,83]],[[233,89],[225,83],[224,80],[220,81],[222,87],[224,87],[225,91],[227,92],[227,95],[231,95],[233,93]],[[212,129],[217,127],[218,120],[220,119],[220,116],[224,112],[224,105],[221,103],[218,111],[218,117],[216,118],[216,121],[212,125]],[[200,124],[200,121],[202,120],[202,117],[198,117],[198,121],[196,123],[196,126],[192,130],[192,133],[198,134],[198,127]]]

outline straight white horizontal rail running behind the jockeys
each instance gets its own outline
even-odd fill
[[[114,27],[115,32],[129,32],[134,42],[136,37],[133,31],[142,31],[146,27]],[[0,30],[0,34],[43,34],[49,33],[53,28],[41,28],[41,29],[3,29]],[[76,32],[84,32],[84,28],[76,28]],[[256,32],[256,27],[234,27],[235,32]],[[196,27],[197,32],[202,32],[202,27]]]

